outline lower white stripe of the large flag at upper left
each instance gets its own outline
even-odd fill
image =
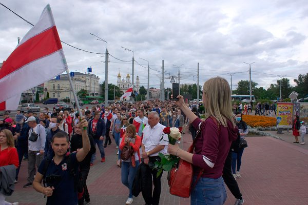
[[[60,49],[48,56],[34,60],[0,79],[3,101],[63,73],[65,71],[63,56],[63,50]]]

